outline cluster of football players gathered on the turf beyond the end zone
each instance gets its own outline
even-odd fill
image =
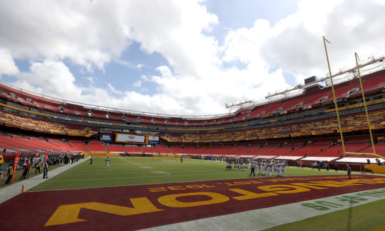
[[[248,160],[229,158],[226,160],[226,170],[246,170],[250,164],[250,175],[286,176],[286,162],[273,160]]]

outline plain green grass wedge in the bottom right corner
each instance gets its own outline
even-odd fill
[[[385,200],[276,226],[264,231],[374,231],[385,230]],[[381,229],[382,228],[382,229]],[[377,230],[376,230],[377,231]]]

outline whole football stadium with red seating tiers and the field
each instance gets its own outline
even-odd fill
[[[384,231],[385,56],[332,72],[318,39],[325,76],[227,113],[117,108],[1,78],[1,230]]]

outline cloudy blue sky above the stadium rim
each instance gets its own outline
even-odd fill
[[[262,102],[325,75],[325,34],[333,70],[354,51],[384,54],[376,0],[29,4],[0,1],[0,80],[113,108],[207,115]]]

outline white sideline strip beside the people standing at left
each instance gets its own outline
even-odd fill
[[[61,167],[55,168],[52,171],[50,171],[48,169],[48,176],[50,178],[52,178],[52,177],[54,177],[54,176],[56,176],[56,175],[58,175],[64,171],[67,171],[68,169],[70,169],[74,166],[77,166],[78,164],[86,161],[88,158],[89,157],[85,157],[84,159],[80,159],[79,161],[77,161],[73,164],[63,165]],[[28,189],[31,189],[31,188],[35,187],[36,185],[39,185],[39,184],[45,182],[46,180],[49,180],[50,178],[48,178],[48,179],[44,178],[43,179],[43,175],[40,174],[40,175],[28,178],[28,179],[23,180],[23,181],[13,183],[11,185],[8,185],[8,186],[0,189],[0,204],[3,203],[4,201],[11,199],[12,197],[14,197],[18,194],[20,194],[22,185],[25,185],[25,188],[24,188],[24,192],[25,192]]]

